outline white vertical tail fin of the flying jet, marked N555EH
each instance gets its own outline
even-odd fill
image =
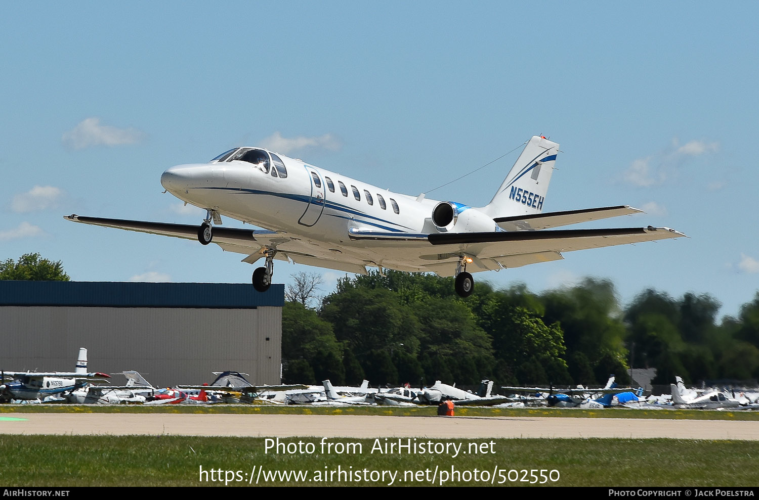
[[[535,214],[543,210],[559,144],[534,136],[514,163],[509,175],[482,212],[495,219]]]

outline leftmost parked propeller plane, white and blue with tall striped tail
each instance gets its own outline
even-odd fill
[[[13,380],[5,382],[5,377]],[[79,348],[79,358],[73,372],[2,372],[0,399],[42,400],[51,395],[82,387],[88,380],[109,379],[106,373],[87,373],[87,349]]]

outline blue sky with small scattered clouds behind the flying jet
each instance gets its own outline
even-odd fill
[[[483,206],[533,135],[560,144],[543,212],[689,238],[565,253],[475,281],[608,278],[620,302],[759,289],[756,2],[11,2],[0,19],[0,259],[76,281],[250,282],[216,245],[66,222],[200,224],[172,166],[269,146],[416,196]],[[475,171],[466,178],[433,190]],[[226,224],[234,226],[227,219]],[[236,227],[241,227],[238,223]],[[274,282],[344,272],[276,262]]]

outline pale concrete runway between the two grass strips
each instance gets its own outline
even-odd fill
[[[573,417],[12,414],[0,434],[759,440],[759,422]]]

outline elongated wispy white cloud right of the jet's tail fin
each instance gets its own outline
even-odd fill
[[[720,143],[708,143],[703,140],[691,140],[682,146],[678,139],[672,139],[671,145],[653,155],[636,159],[622,173],[628,184],[638,187],[651,187],[664,184],[676,177],[676,168],[687,159],[714,153],[720,149]]]

